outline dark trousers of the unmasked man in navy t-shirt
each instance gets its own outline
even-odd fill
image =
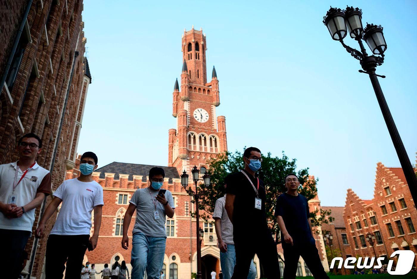
[[[310,269],[314,278],[326,279],[322,261],[320,260],[319,251],[314,243],[305,245],[294,245],[282,243],[284,250],[284,279],[294,279],[297,272],[297,265],[300,256],[304,259],[305,267]]]

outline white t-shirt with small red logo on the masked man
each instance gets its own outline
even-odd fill
[[[62,204],[50,234],[90,234],[91,211],[104,204],[103,187],[95,181],[73,178],[65,180],[53,195],[62,199]]]

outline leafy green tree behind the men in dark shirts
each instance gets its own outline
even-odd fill
[[[216,201],[226,194],[226,176],[229,173],[238,172],[244,167],[242,156],[243,153],[239,151],[235,151],[234,153],[226,152],[219,154],[217,158],[211,158],[207,161],[207,171],[211,177],[211,185],[206,187],[201,184],[198,190],[200,196],[198,207],[201,210],[200,217],[205,221],[213,221],[210,219],[210,215],[214,211]],[[289,159],[284,154],[284,151],[281,157],[272,157],[271,153],[267,153],[266,156],[262,155],[262,159],[262,167],[258,174],[259,178],[264,181],[266,191],[265,208],[267,221],[270,224],[271,233],[275,234],[279,228],[274,217],[274,210],[276,199],[286,191],[284,185],[285,176],[290,173],[297,174],[300,181],[299,193],[308,200],[313,199],[317,194],[316,184],[318,179],[309,179],[309,168],[296,171],[296,159]],[[189,194],[192,193],[189,192]],[[333,221],[330,213],[331,211],[325,211],[323,209],[310,212],[312,226],[319,226],[322,223]]]

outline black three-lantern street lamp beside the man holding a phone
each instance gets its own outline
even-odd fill
[[[204,168],[204,171],[206,168]],[[198,174],[200,171],[196,166],[193,167],[191,170],[191,173],[193,174],[193,181],[196,184],[196,191],[194,192],[191,190],[191,187],[187,189],[188,186],[188,174],[184,170],[183,174],[181,174],[181,185],[184,187],[184,189],[187,191],[189,195],[194,196],[194,201],[196,202],[196,221],[197,221],[197,279],[202,279],[201,276],[201,241],[203,240],[204,231],[200,228],[200,214],[198,213]],[[210,185],[210,176],[207,174],[207,171],[205,171],[205,174],[203,176],[204,185],[209,186]]]

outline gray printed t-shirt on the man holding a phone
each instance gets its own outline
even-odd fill
[[[165,209],[156,199],[158,191],[153,191],[149,187],[136,190],[132,199],[129,201],[136,206],[136,221],[133,226],[133,234],[141,232],[147,236],[166,237],[165,232]],[[170,191],[166,190],[165,198],[168,204],[175,208],[174,200]],[[155,220],[153,211],[158,212],[159,219]]]

